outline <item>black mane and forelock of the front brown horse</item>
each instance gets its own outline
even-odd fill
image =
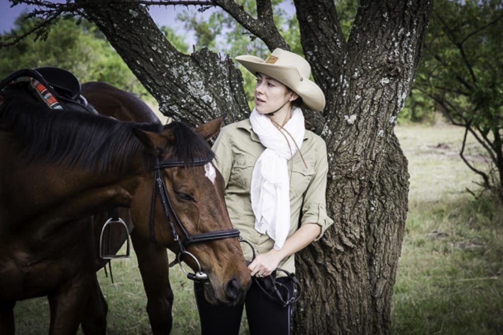
[[[176,144],[170,148],[176,159],[213,157],[206,141],[182,123],[172,123]],[[97,174],[122,173],[138,153],[143,168],[152,165],[152,152],[134,135],[134,129],[160,133],[159,124],[121,122],[77,111],[50,109],[27,99],[7,98],[0,108],[0,130],[13,132],[16,150],[27,162],[56,163],[80,167]]]

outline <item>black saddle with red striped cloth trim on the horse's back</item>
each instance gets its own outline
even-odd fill
[[[0,90],[13,83],[26,82],[39,100],[53,109],[98,114],[80,94],[80,82],[73,73],[59,67],[20,69],[0,81]]]

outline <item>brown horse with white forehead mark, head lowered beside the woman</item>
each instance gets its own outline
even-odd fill
[[[1,329],[14,333],[17,300],[47,295],[51,334],[75,333],[80,322],[86,333],[105,333],[103,323],[95,325],[103,311],[86,313],[104,301],[89,216],[117,206],[130,209],[154,333],[171,329],[165,248],[194,270],[192,278],[204,281],[209,302],[241,303],[249,271],[206,143],[221,124],[216,119],[193,130],[178,122],[67,113],[38,103],[17,85],[4,89]],[[163,279],[152,279],[152,271]]]

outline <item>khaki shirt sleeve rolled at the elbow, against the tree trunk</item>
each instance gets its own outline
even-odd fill
[[[315,240],[319,240],[323,233],[333,223],[326,213],[326,175],[328,162],[326,158],[326,145],[320,142],[316,160],[315,174],[312,177],[304,195],[300,225],[317,224],[321,227],[321,233]]]

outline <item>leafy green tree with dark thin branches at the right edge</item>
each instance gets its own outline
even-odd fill
[[[503,6],[500,1],[438,0],[415,86],[452,124],[465,128],[460,156],[503,200]],[[472,134],[488,155],[488,170],[466,158]]]

